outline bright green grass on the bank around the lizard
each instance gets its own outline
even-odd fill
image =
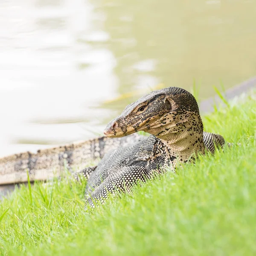
[[[3,255],[255,255],[256,101],[203,117],[241,143],[84,212],[85,183],[21,187],[0,202]]]

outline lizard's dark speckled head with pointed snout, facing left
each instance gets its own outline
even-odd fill
[[[182,88],[168,87],[153,91],[128,105],[120,116],[108,123],[104,134],[123,137],[145,131],[165,138],[189,129],[203,134],[195,97]]]

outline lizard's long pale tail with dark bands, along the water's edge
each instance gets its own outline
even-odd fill
[[[82,169],[92,160],[102,158],[108,151],[120,145],[135,143],[142,138],[138,134],[116,139],[100,137],[38,150],[35,154],[24,152],[3,157],[0,158],[0,184],[26,182],[27,171],[30,181],[33,181],[58,176],[64,171],[65,165],[72,169]]]

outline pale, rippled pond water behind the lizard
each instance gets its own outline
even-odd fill
[[[0,156],[102,134],[163,86],[256,73],[255,0],[1,0]]]

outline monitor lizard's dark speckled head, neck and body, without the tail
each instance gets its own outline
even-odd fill
[[[178,163],[195,160],[197,154],[222,147],[218,134],[203,132],[198,104],[191,93],[178,87],[153,91],[128,105],[107,125],[107,137],[123,137],[137,131],[151,136],[106,154],[91,172],[86,205],[104,202],[109,193],[131,192],[134,183],[145,182]],[[87,175],[88,176],[88,175]]]

